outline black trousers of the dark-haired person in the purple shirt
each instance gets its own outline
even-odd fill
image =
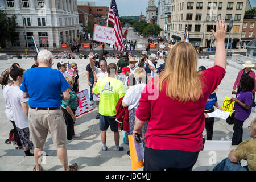
[[[243,122],[236,118],[234,119],[232,145],[238,145],[243,141]]]

